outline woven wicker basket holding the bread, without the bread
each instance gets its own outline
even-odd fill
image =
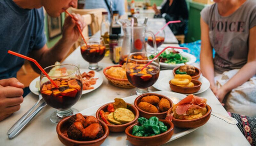
[[[121,87],[121,88],[134,88],[134,86],[128,81],[128,79],[117,79],[114,78],[106,73],[106,71],[111,67],[121,67],[122,65],[116,65],[116,66],[108,66],[103,70],[103,73],[105,77],[108,79],[108,81],[113,84],[114,86]]]

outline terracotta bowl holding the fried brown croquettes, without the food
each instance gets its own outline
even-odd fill
[[[149,119],[150,117],[152,116],[156,116],[158,119],[164,119],[166,117],[166,114],[167,114],[167,111],[165,112],[161,112],[161,113],[149,113],[149,112],[146,112],[142,109],[140,109],[138,107],[139,103],[140,103],[140,100],[145,97],[145,96],[148,96],[148,95],[156,95],[159,97],[159,99],[161,100],[161,98],[166,98],[169,102],[170,102],[170,105],[171,105],[171,108],[173,106],[173,102],[170,100],[170,98],[164,96],[164,95],[161,95],[161,94],[155,94],[155,93],[145,93],[145,94],[141,94],[140,96],[138,96],[135,101],[134,101],[134,106],[136,108],[138,108],[139,112],[140,112],[140,116],[142,117],[145,117],[147,119]]]

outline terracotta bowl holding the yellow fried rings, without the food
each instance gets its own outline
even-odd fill
[[[183,93],[183,94],[196,93],[197,91],[200,90],[202,83],[200,81],[194,80],[194,79],[192,79],[191,82],[194,83],[194,85],[195,85],[194,87],[180,87],[180,86],[176,86],[176,85],[173,85],[171,83],[171,80],[169,81],[169,84],[170,84],[170,88],[174,92]]]

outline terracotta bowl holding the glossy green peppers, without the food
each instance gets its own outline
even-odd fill
[[[140,136],[133,136],[132,129],[135,125],[140,125],[139,123],[132,124],[131,126],[125,129],[125,134],[127,136],[127,140],[135,146],[147,145],[147,146],[155,146],[155,145],[162,145],[166,143],[173,135],[173,123],[167,120],[159,120],[164,122],[164,125],[168,127],[168,130],[164,133],[161,133],[156,136],[147,136],[147,137],[140,137]]]

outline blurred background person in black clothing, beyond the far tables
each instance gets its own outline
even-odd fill
[[[186,0],[165,0],[161,10],[156,4],[153,5],[155,17],[164,17],[166,23],[169,21],[180,20],[181,23],[169,24],[174,35],[187,34],[188,31],[188,7]]]

